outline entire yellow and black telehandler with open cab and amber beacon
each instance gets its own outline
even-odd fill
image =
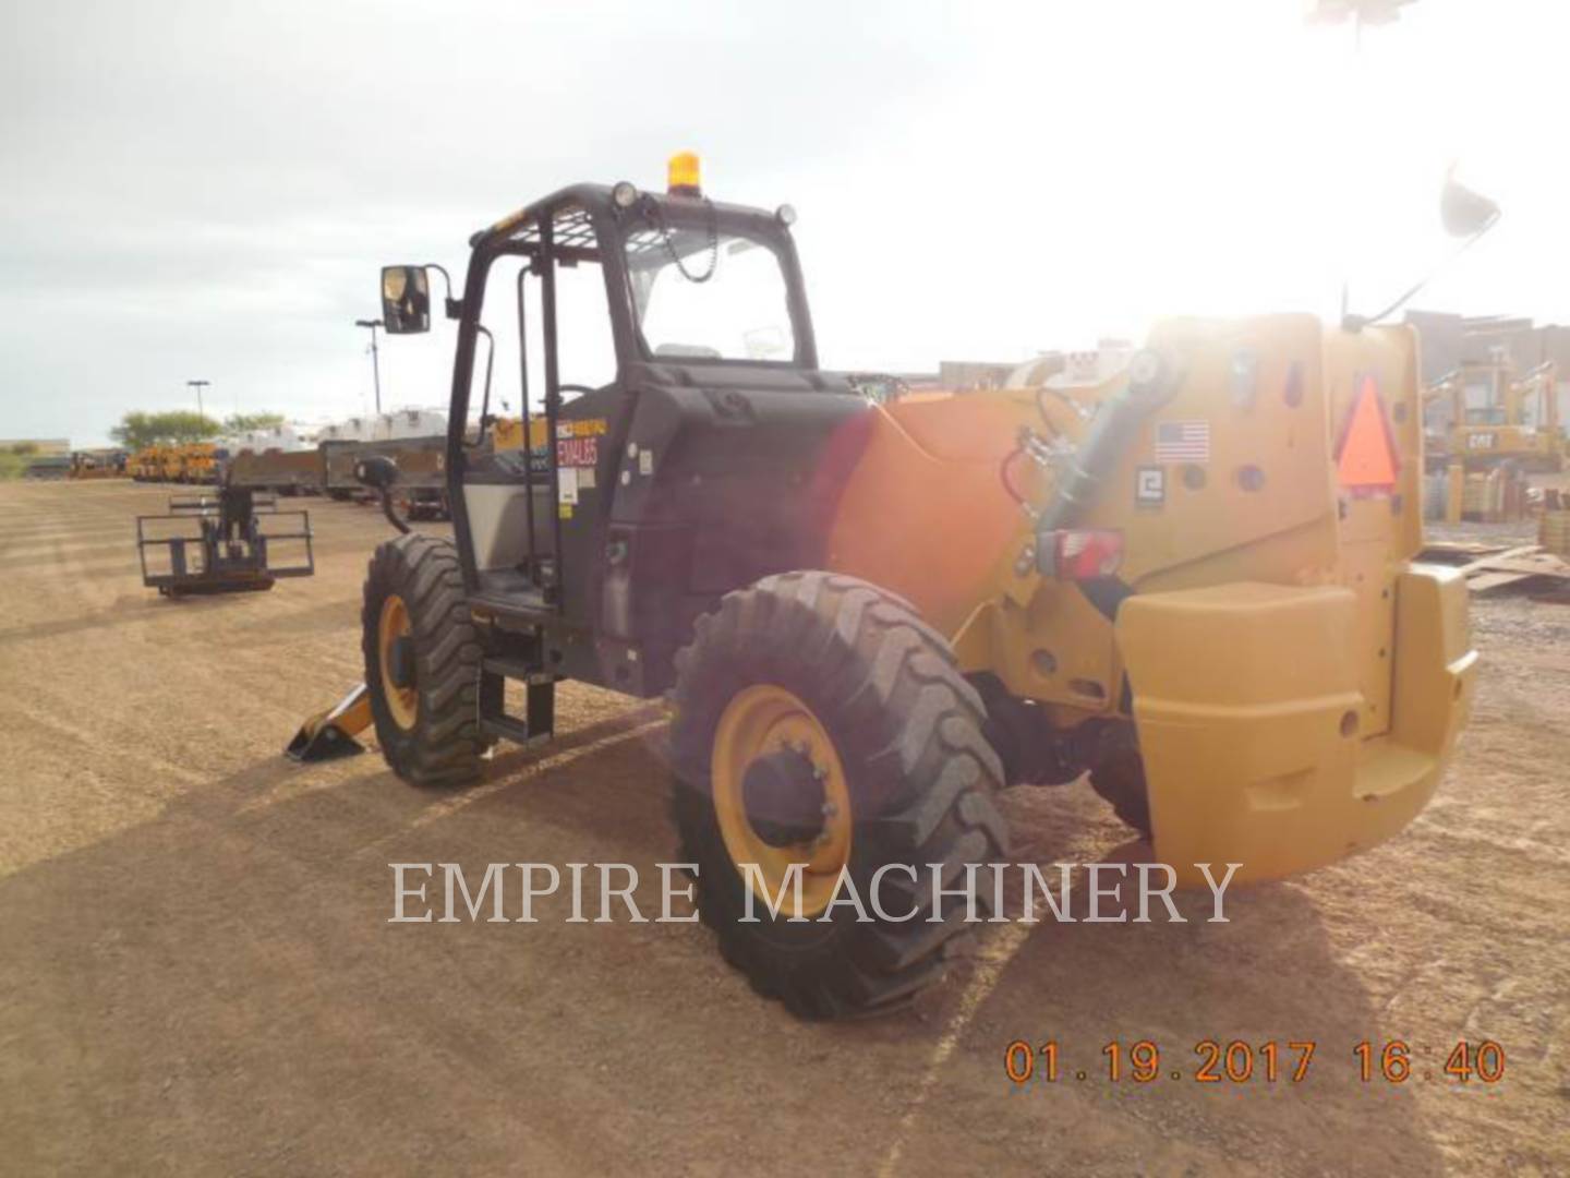
[[[366,683],[295,755],[374,719],[399,776],[463,782],[495,738],[551,735],[564,679],[667,696],[702,919],[818,1018],[942,972],[967,898],[989,903],[969,865],[1008,853],[1008,784],[1088,773],[1184,883],[1302,872],[1411,820],[1476,655],[1460,578],[1413,562],[1410,330],[1184,319],[1097,380],[876,405],[818,368],[793,218],[706,199],[678,155],[667,193],[575,185],[471,237],[446,302],[454,540],[377,548]],[[564,371],[567,272],[598,275],[606,383]],[[498,289],[517,426],[490,404]],[[382,294],[389,333],[429,328],[430,269]],[[874,919],[834,903],[842,873],[882,881]]]

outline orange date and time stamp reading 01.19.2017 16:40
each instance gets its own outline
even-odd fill
[[[1443,1059],[1441,1059],[1443,1057]],[[1003,1048],[1003,1071],[1019,1088],[1099,1079],[1112,1084],[1156,1084],[1192,1081],[1195,1084],[1302,1084],[1319,1063],[1314,1040],[1206,1038],[1179,1059],[1163,1059],[1160,1046],[1141,1038],[1134,1043],[1112,1040],[1101,1049],[1094,1066],[1069,1063],[1057,1040],[1030,1043],[1017,1038]],[[1341,1060],[1338,1060],[1339,1063]],[[1452,1084],[1498,1084],[1504,1079],[1504,1048],[1493,1040],[1459,1040],[1448,1051],[1427,1052],[1404,1040],[1361,1040],[1352,1044],[1345,1065],[1364,1084],[1405,1084],[1443,1079]]]

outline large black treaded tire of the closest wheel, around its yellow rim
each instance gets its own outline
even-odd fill
[[[832,740],[843,784],[827,796],[849,798],[843,869],[871,922],[857,920],[849,889],[832,913],[805,920],[787,919],[788,902],[776,919],[758,897],[757,922],[743,922],[749,884],[725,839],[730,831],[735,842],[736,818],[716,809],[716,788],[735,777],[732,744],[716,746],[716,738],[730,732],[732,704],[744,707],[757,691],[801,705]],[[969,880],[983,916],[991,889],[966,865],[997,862],[1008,845],[992,801],[1002,768],[981,735],[986,712],[942,636],[865,581],[823,572],[769,576],[727,594],[697,620],[692,644],[677,655],[674,702],[672,810],[683,859],[699,867],[699,913],[724,958],[802,1018],[889,1010],[937,982],[970,931],[969,905],[953,895],[934,909],[928,864],[940,865],[945,889]],[[768,760],[771,748],[760,741],[750,763]],[[785,851],[805,858],[807,847]],[[893,919],[873,909],[870,881],[885,864],[909,865],[917,876],[884,875],[879,895]],[[939,920],[928,922],[934,914]]]

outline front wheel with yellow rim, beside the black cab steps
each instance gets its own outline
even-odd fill
[[[392,641],[407,641],[405,685]],[[382,755],[414,785],[480,773],[480,636],[451,540],[410,532],[377,547],[366,573],[361,649]]]

